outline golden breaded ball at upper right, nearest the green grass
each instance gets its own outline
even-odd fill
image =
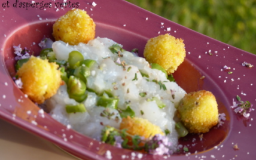
[[[162,66],[170,75],[184,61],[186,56],[184,47],[182,39],[166,33],[148,40],[144,49],[144,57],[149,63]]]

